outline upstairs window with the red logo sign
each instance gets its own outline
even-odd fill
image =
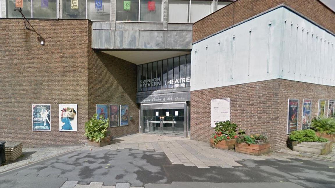
[[[140,0],[140,21],[162,21],[161,0]]]

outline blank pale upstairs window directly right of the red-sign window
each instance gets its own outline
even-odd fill
[[[187,23],[189,18],[189,1],[169,0],[169,22]]]

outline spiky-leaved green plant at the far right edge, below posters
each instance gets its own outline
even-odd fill
[[[314,117],[311,128],[321,134],[335,133],[335,118],[333,117]]]

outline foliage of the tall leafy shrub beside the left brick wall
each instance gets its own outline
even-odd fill
[[[98,114],[85,123],[85,136],[92,142],[100,142],[108,134],[109,119],[105,119],[100,115],[100,119],[97,119]]]

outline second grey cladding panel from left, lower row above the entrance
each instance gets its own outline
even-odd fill
[[[115,30],[114,48],[115,49],[137,49],[139,44],[138,30]]]

